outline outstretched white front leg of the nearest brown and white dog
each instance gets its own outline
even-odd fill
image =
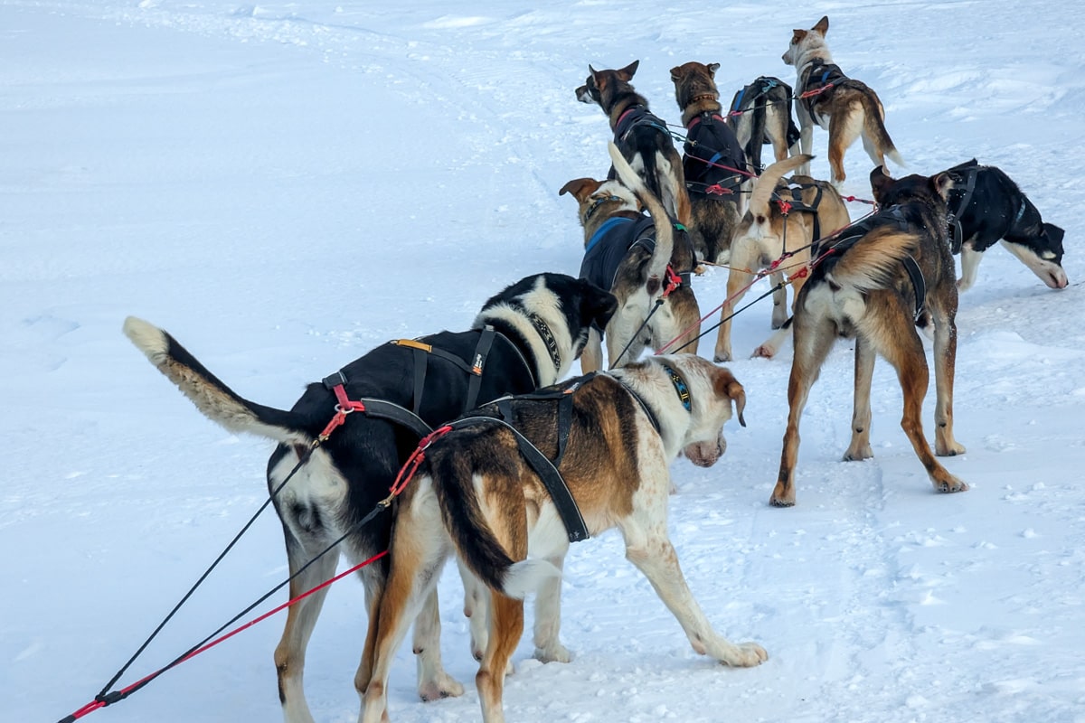
[[[665,535],[665,525],[650,531],[643,545],[626,546],[625,556],[652,583],[698,654],[712,656],[733,668],[752,668],[768,659],[765,648],[756,643],[736,645],[713,630],[686,583],[678,555]]]

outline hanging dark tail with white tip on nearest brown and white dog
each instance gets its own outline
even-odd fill
[[[486,518],[485,503],[475,493],[474,485],[480,463],[493,467],[494,460],[487,457],[482,461],[471,449],[452,447],[443,450],[441,446],[443,443],[438,442],[431,448],[427,470],[445,529],[463,564],[490,590],[518,598],[535,591],[545,579],[561,574],[546,560],[513,560],[498,541]],[[510,475],[507,483],[519,486],[518,477]],[[509,521],[515,525],[525,520],[515,518]],[[527,530],[523,533],[526,535]]]

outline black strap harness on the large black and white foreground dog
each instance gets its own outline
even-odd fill
[[[550,332],[550,327],[547,326],[546,322],[539,319],[536,314],[529,314],[529,318],[532,319],[532,323],[535,325],[536,330],[539,332],[539,335],[542,336],[542,340],[546,343],[547,349],[550,351],[551,359],[554,360],[554,367],[560,369],[561,359],[557,353],[557,341],[553,338],[553,334]],[[544,330],[546,331],[546,334],[542,333]],[[426,422],[419,416],[419,411],[422,408],[422,397],[425,392],[425,377],[426,372],[429,371],[431,358],[437,357],[455,366],[458,366],[468,374],[468,396],[463,404],[463,412],[467,412],[468,410],[474,409],[478,401],[478,390],[482,387],[482,375],[486,367],[486,358],[489,356],[489,350],[495,338],[503,339],[505,343],[516,352],[520,361],[524,364],[524,369],[527,370],[528,376],[532,378],[532,384],[538,384],[535,379],[535,372],[532,370],[531,364],[527,363],[523,353],[521,353],[516,345],[512,344],[508,337],[494,331],[494,327],[488,324],[476,331],[478,332],[478,341],[475,345],[474,352],[471,354],[470,363],[460,358],[458,354],[441,349],[439,347],[435,347],[431,344],[425,344],[424,341],[420,341],[418,339],[395,339],[393,341],[388,341],[388,344],[412,349],[414,352],[414,390],[412,397],[412,409],[410,410],[384,399],[370,397],[362,397],[356,400],[349,399],[346,395],[345,388],[348,379],[346,374],[343,373],[343,370],[324,377],[323,385],[335,395],[336,404],[335,416],[332,417],[332,421],[324,428],[323,432],[321,432],[320,440],[327,440],[332,430],[343,424],[346,415],[352,412],[361,412],[366,416],[393,422],[406,429],[409,429],[419,438],[430,435],[433,431],[433,427],[426,424]]]

